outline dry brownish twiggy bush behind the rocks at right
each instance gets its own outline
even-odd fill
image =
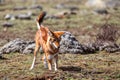
[[[116,43],[116,41],[120,38],[119,28],[116,25],[113,24],[104,24],[100,27],[98,34],[96,35],[96,41],[100,42],[113,42]]]

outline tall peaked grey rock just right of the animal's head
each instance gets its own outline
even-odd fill
[[[66,32],[61,36],[60,53],[83,53],[83,46],[79,44],[76,38],[70,33]]]

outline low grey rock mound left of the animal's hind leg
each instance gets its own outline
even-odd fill
[[[23,50],[28,45],[31,45],[33,43],[34,43],[34,41],[24,41],[24,40],[21,40],[21,39],[17,38],[13,41],[10,41],[6,45],[4,45],[2,48],[0,48],[0,54],[11,53],[11,52],[23,53]],[[29,52],[30,52],[30,48],[29,48]]]

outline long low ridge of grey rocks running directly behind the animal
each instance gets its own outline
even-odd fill
[[[0,54],[19,52],[19,53],[33,53],[35,48],[34,41],[24,41],[21,39],[15,39],[10,41],[6,45],[0,48]],[[120,45],[115,43],[107,42],[97,42],[97,43],[87,43],[86,45],[80,44],[75,36],[70,32],[65,32],[61,36],[59,53],[72,53],[72,54],[86,54],[95,53],[96,51],[105,50],[107,52],[120,52]],[[42,48],[40,48],[40,52]]]

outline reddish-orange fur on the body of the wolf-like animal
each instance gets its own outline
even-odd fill
[[[39,22],[40,19],[41,19],[41,16],[39,16],[37,21]],[[52,33],[53,36],[50,36],[48,34],[49,32]],[[37,52],[38,52],[38,50],[39,50],[39,48],[41,46],[44,53],[45,53],[45,55],[43,56],[43,60],[45,58],[47,59],[49,70],[52,70],[52,60],[53,59],[56,60],[56,68],[57,68],[57,66],[58,66],[58,64],[57,64],[58,55],[55,55],[55,54],[57,54],[57,52],[59,50],[59,48],[53,49],[51,47],[51,45],[49,44],[49,39],[50,38],[60,39],[60,36],[62,34],[64,34],[64,31],[54,31],[53,32],[53,31],[49,30],[47,27],[44,27],[42,25],[40,26],[40,29],[36,32],[36,35],[35,35],[36,46],[35,46],[35,51],[34,51],[34,57],[36,57]],[[58,47],[59,46],[59,41],[55,41],[54,44]],[[51,56],[53,56],[53,58],[49,58]],[[33,63],[34,63],[34,61],[33,61]],[[32,68],[33,68],[33,66],[31,66],[31,69]]]

